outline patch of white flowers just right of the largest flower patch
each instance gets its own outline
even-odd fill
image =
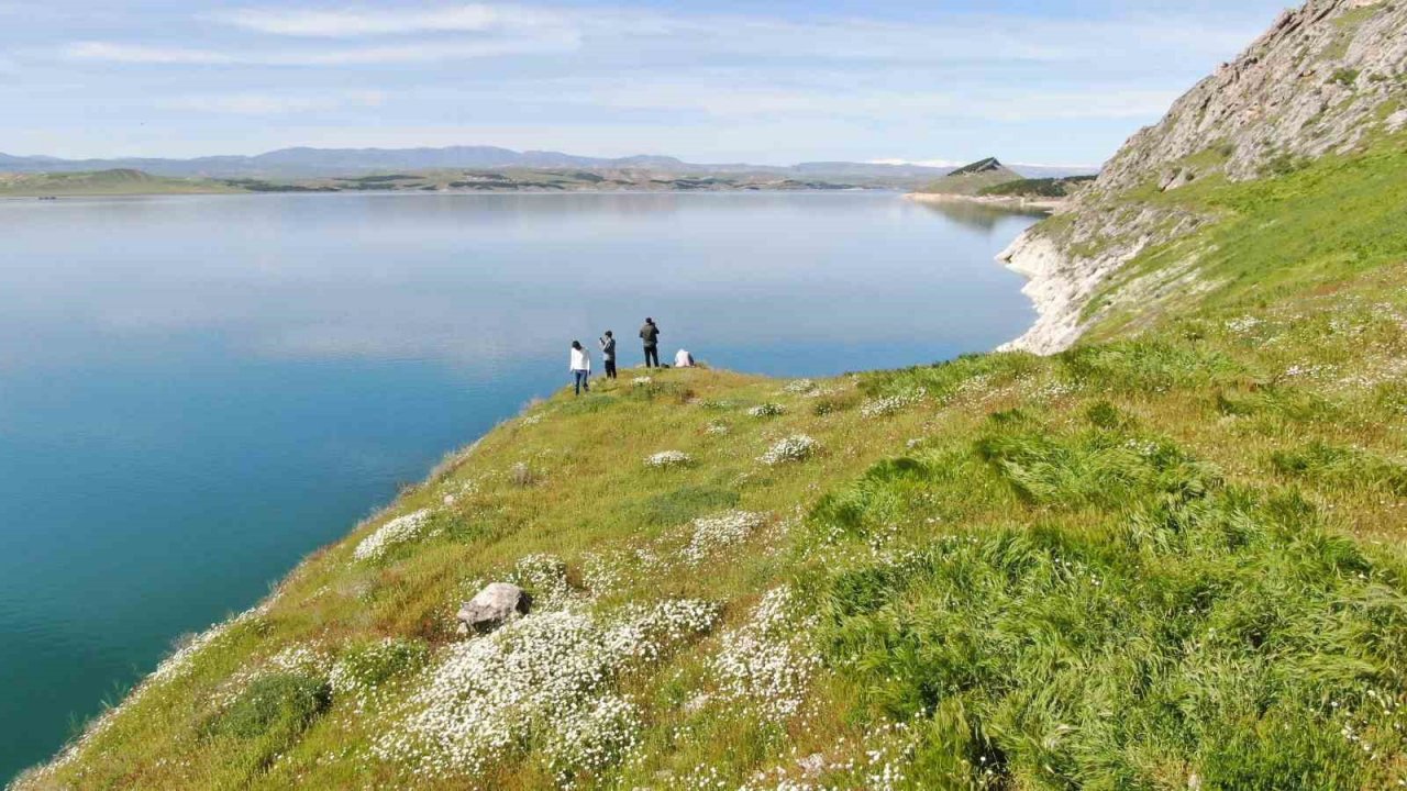
[[[801,612],[791,588],[767,591],[749,622],[723,635],[723,647],[713,657],[722,695],[774,722],[796,715],[806,681],[820,666],[808,646],[812,626],[815,618]]]

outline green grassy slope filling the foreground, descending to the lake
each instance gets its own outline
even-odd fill
[[[1185,283],[1213,286],[1116,315],[1097,342],[1055,357],[867,373],[822,381],[819,396],[725,372],[650,386],[628,374],[537,404],[311,556],[265,609],[31,780],[552,787],[564,780],[550,766],[556,723],[620,692],[637,728],[587,729],[595,757],[571,763],[601,768],[575,776],[581,787],[1396,787],[1400,146],[1145,196],[1225,213],[1175,242],[1202,253],[1203,279]],[[1172,263],[1154,251],[1134,266]],[[750,417],[761,403],[785,412]],[[817,455],[757,462],[798,432]],[[666,449],[694,463],[646,469]],[[422,507],[435,517],[421,538],[353,559],[386,519]],[[740,543],[687,550],[691,519],[734,507],[771,517]],[[539,553],[566,563],[573,607],[599,619],[699,598],[720,621],[530,709],[478,773],[428,780],[424,763],[376,757],[370,745],[402,721],[397,701],[463,647],[457,602]],[[529,571],[518,577],[550,611],[559,583]],[[781,586],[789,619],[760,618],[760,597]],[[367,660],[383,638],[398,640],[393,659]],[[318,662],[274,671],[290,646],[362,669],[384,697],[329,691]],[[739,646],[757,660],[741,671]],[[805,776],[796,761],[813,753],[827,767]]]

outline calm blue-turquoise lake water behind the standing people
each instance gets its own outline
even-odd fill
[[[989,349],[1034,221],[893,194],[0,201],[0,778],[644,315],[781,376]]]

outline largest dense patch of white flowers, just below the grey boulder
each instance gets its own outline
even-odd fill
[[[633,705],[612,687],[632,664],[705,633],[713,605],[666,601],[598,619],[535,612],[450,646],[407,709],[373,745],[425,778],[480,774],[530,742],[559,784],[622,760],[636,745]]]

